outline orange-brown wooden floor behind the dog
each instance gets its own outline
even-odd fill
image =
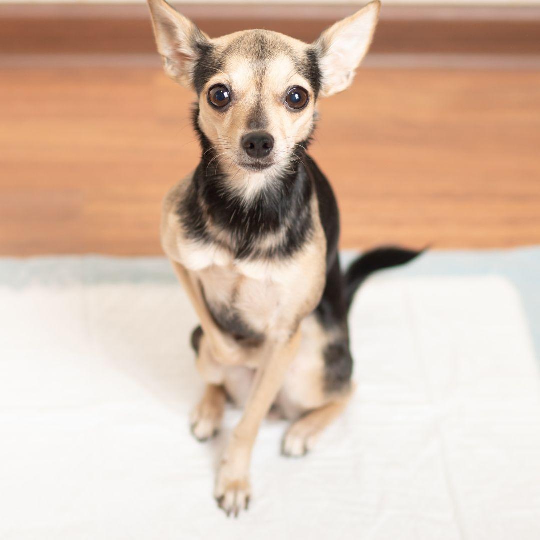
[[[153,68],[0,80],[0,255],[159,254],[192,96]],[[342,247],[540,244],[540,72],[367,69],[320,109]]]

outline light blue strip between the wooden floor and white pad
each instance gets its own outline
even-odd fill
[[[354,256],[344,253],[346,263]],[[387,272],[401,275],[501,275],[514,283],[523,301],[540,361],[540,247],[503,251],[428,252],[410,265]],[[165,258],[43,257],[0,259],[0,286],[24,287],[31,282],[62,286],[73,283],[160,281],[176,278]]]

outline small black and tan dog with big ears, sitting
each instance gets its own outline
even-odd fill
[[[220,507],[238,515],[262,420],[271,408],[294,420],[285,455],[312,449],[352,394],[356,288],[418,254],[379,249],[343,275],[338,205],[306,152],[317,100],[352,83],[380,2],[311,45],[265,30],[210,39],[164,0],[149,4],[165,72],[197,94],[203,154],[165,198],[161,241],[201,325],[192,345],[207,386],[193,434],[217,433],[227,398],[244,407],[215,483]]]

